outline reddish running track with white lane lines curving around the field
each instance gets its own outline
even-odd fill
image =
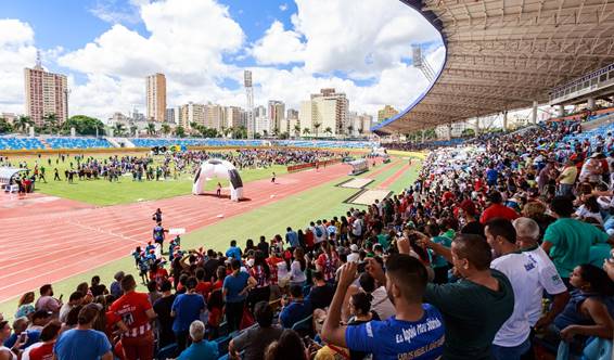
[[[158,207],[168,228],[190,232],[342,178],[348,170],[338,164],[319,172],[289,173],[279,177],[277,184],[269,179],[253,181],[245,184],[250,200],[239,203],[193,195],[108,207],[39,194],[10,200],[12,206],[0,206],[0,303],[127,256],[151,240],[151,215]]]

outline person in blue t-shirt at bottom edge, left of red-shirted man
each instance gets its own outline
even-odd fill
[[[63,332],[53,347],[57,360],[113,360],[111,343],[102,332],[92,330],[100,310],[100,305],[88,304],[81,308],[78,325]],[[153,349],[152,349],[153,351]]]

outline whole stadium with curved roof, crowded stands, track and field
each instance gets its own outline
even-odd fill
[[[364,134],[0,134],[0,360],[613,359],[614,4],[400,2]]]

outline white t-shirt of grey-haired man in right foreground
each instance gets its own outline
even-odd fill
[[[535,263],[539,274],[539,287],[535,288],[533,295],[530,295],[529,306],[528,306],[528,323],[534,326],[537,320],[541,317],[541,298],[543,296],[543,291],[550,295],[561,294],[567,291],[567,287],[561,280],[554,263],[548,257],[548,254],[540,247],[537,246],[535,249],[523,252],[523,254]]]

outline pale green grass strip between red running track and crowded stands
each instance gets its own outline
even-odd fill
[[[373,177],[375,182],[372,182],[368,188],[375,188],[387,177],[400,169],[404,164],[406,164],[405,160],[401,160],[383,173]],[[369,178],[371,171],[380,169],[383,166],[386,165],[379,165],[360,177]],[[391,184],[389,189],[401,190],[407,187],[415,179],[419,168],[420,166],[412,167],[397,179],[397,181]],[[268,171],[264,173],[264,176],[269,175],[270,172]],[[182,236],[181,247],[190,249],[204,246],[205,248],[225,252],[231,240],[236,240],[241,246],[244,246],[247,239],[257,241],[260,235],[265,235],[267,239],[271,239],[278,233],[283,235],[285,228],[289,226],[293,229],[305,228],[310,220],[322,218],[330,219],[333,216],[344,215],[351,206],[360,207],[343,203],[343,201],[357,192],[356,189],[335,187],[335,184],[348,179],[350,179],[350,177],[322,183],[276,203],[255,208],[248,213],[230,217],[215,224],[193,231]],[[168,183],[161,183],[159,185],[167,184]],[[67,298],[78,283],[84,281],[89,282],[92,275],[100,275],[103,283],[110,284],[113,281],[113,274],[118,270],[130,272],[138,278],[133,259],[129,254],[126,254],[126,257],[121,259],[54,283],[53,287],[57,296],[64,294],[64,298]],[[141,291],[143,291],[143,286],[141,286]],[[0,304],[0,312],[4,313],[5,317],[12,318],[16,309],[16,301],[17,299],[13,299]]]

